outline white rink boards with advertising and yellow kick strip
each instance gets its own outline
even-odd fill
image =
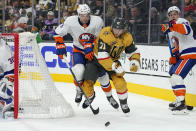
[[[68,61],[72,65],[72,43],[66,43],[66,45]],[[41,43],[39,46],[53,80],[56,82],[73,82],[73,77],[66,64],[55,54],[55,43]],[[127,72],[125,79],[128,91],[173,101],[174,95],[168,75],[170,67],[168,47],[139,45],[138,49],[141,52],[141,68],[138,73],[133,74],[129,71],[129,61],[126,54],[123,53],[120,59],[123,68]],[[186,77],[185,84],[187,87],[187,103],[196,106],[196,67],[193,67]]]

